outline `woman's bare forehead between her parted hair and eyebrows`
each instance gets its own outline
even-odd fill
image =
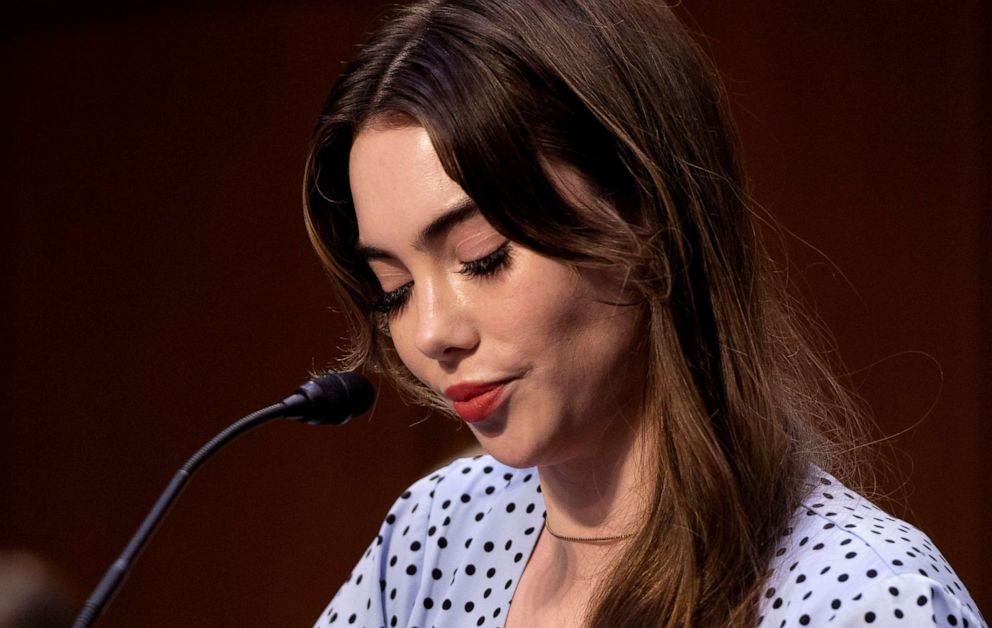
[[[367,244],[408,237],[466,197],[421,126],[362,130],[352,144],[348,177],[359,235]]]

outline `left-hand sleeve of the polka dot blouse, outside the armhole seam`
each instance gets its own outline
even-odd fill
[[[314,628],[408,625],[423,571],[423,553],[418,550],[437,477],[418,481],[393,503],[379,533]]]

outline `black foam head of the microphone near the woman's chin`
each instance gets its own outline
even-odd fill
[[[353,371],[321,373],[296,393],[307,403],[297,405],[294,414],[310,425],[339,425],[368,410],[375,400],[372,383]]]

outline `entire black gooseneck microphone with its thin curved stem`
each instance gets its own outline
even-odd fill
[[[131,563],[155,532],[162,518],[169,512],[186,480],[217,450],[236,436],[278,417],[294,419],[310,425],[340,425],[368,410],[374,399],[375,390],[372,384],[358,373],[326,372],[314,376],[279,403],[239,419],[215,436],[186,461],[165,487],[165,491],[145,517],[141,527],[131,537],[120,557],[114,561],[100,583],[93,589],[93,593],[76,617],[73,628],[89,628],[97,620],[131,569]]]

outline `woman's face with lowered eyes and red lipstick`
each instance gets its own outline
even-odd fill
[[[613,305],[619,281],[500,235],[422,127],[362,131],[349,172],[359,250],[400,358],[494,457],[517,467],[580,460],[603,445],[611,419],[634,419],[642,329],[637,308]],[[566,194],[585,193],[560,178],[573,183]]]

